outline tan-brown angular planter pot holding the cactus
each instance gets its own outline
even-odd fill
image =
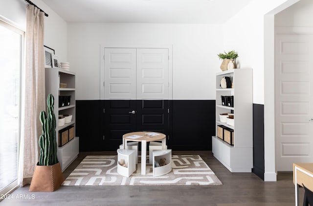
[[[49,165],[36,165],[33,178],[30,183],[30,192],[53,192],[63,183],[64,178],[60,162]]]

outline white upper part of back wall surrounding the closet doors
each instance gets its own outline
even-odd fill
[[[67,57],[77,99],[100,99],[100,45],[173,46],[173,99],[215,99],[221,25],[67,23]]]

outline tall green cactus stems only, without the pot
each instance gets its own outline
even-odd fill
[[[59,162],[57,156],[58,144],[56,142],[56,119],[53,112],[54,97],[49,94],[47,97],[47,113],[40,112],[40,122],[42,124],[42,135],[39,137],[39,165],[53,165]]]

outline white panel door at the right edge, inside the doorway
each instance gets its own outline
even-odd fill
[[[292,171],[313,162],[313,35],[277,34],[275,44],[276,170]]]

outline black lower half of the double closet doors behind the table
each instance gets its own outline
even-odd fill
[[[136,131],[168,132],[168,100],[105,100],[104,148],[116,150]]]

